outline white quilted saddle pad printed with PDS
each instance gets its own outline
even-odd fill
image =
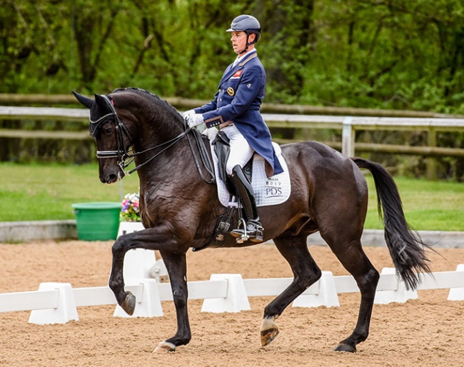
[[[216,129],[208,129],[215,130]],[[214,131],[213,131],[214,133]],[[229,206],[230,193],[226,188],[226,184],[223,183],[218,177],[218,157],[214,151],[214,146],[211,144],[214,137],[211,137],[211,132],[208,131],[208,138],[210,139],[211,155],[213,156],[214,171],[216,175],[216,183],[218,186],[218,198],[223,206]],[[285,159],[283,159],[281,147],[278,144],[273,143],[274,150],[278,160],[281,162],[283,172],[276,174],[272,177],[266,177],[266,171],[264,170],[264,159],[258,154],[253,155],[253,175],[251,179],[251,186],[255,191],[256,206],[268,206],[277,205],[283,203],[290,197],[291,182],[290,175],[288,174],[288,167]],[[235,203],[231,203],[234,205]]]

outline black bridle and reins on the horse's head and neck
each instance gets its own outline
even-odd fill
[[[156,159],[156,157],[158,157],[164,151],[171,148],[171,146],[173,146],[178,141],[183,139],[184,136],[187,136],[188,144],[191,148],[193,159],[195,161],[196,168],[201,178],[203,179],[203,181],[206,181],[207,183],[215,182],[214,173],[213,173],[213,164],[211,163],[211,159],[206,152],[205,144],[203,142],[203,139],[201,139],[201,136],[198,130],[194,128],[189,128],[188,125],[186,124],[186,121],[183,121],[184,131],[182,131],[181,134],[178,134],[178,136],[175,136],[173,139],[165,141],[164,143],[145,149],[144,151],[130,153],[128,149],[126,149],[126,146],[124,144],[124,135],[127,138],[129,138],[129,134],[126,129],[126,126],[124,126],[121,119],[119,119],[118,113],[116,112],[116,109],[114,108],[114,101],[113,99],[111,99],[110,96],[107,96],[106,94],[102,95],[102,97],[106,101],[106,104],[110,109],[110,112],[109,114],[101,116],[98,120],[95,120],[95,121],[90,120],[89,135],[91,136],[91,138],[95,138],[96,134],[98,133],[101,127],[101,124],[104,124],[106,121],[113,120],[116,126],[116,151],[96,151],[96,157],[98,159],[116,158],[117,159],[116,162],[118,166],[121,168],[121,171],[123,171],[124,176],[129,176],[133,174],[133,172],[138,171],[138,169],[141,169],[143,166],[148,164],[148,162],[153,161],[153,159]],[[200,162],[198,161],[198,157],[196,156],[196,151],[193,149],[193,145],[191,144],[191,140],[188,136],[189,133],[193,135],[193,138],[196,141],[196,146],[200,153],[201,163],[206,168],[206,171],[208,171],[208,174],[211,177],[210,179],[206,179],[206,177],[203,175]],[[133,159],[135,156],[144,154],[148,151],[153,151],[154,149],[158,149],[158,148],[163,148],[163,149],[158,151],[156,154],[153,154],[153,156],[151,156],[149,159],[147,159],[141,164],[138,164],[138,166],[134,167],[130,171],[126,171],[126,168],[133,162]]]

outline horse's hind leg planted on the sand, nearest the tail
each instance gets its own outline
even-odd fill
[[[346,236],[346,233],[338,233],[339,234],[334,238],[327,234],[323,236],[323,238],[327,241],[338,260],[340,260],[346,270],[355,278],[360,290],[361,302],[358,321],[353,333],[351,333],[348,338],[338,343],[334,350],[355,352],[356,345],[365,341],[369,334],[370,316],[372,315],[375,289],[377,288],[380,276],[372,263],[370,263],[368,257],[365,256],[360,239],[347,241],[346,238],[342,238],[343,234]]]

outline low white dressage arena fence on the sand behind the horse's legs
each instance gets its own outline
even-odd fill
[[[418,291],[450,289],[449,301],[464,301],[464,264],[456,271],[421,273]],[[243,279],[240,274],[212,274],[209,281],[188,282],[188,299],[203,299],[202,312],[240,312],[250,310],[249,297],[277,296],[293,278]],[[172,301],[171,285],[154,278],[126,279],[126,289],[136,296],[136,309],[128,316],[116,306],[114,316],[162,316],[162,301]],[[340,306],[338,294],[359,292],[352,276],[333,276],[323,271],[321,279],[293,301],[293,307]],[[418,298],[407,291],[394,268],[383,268],[375,303],[404,303]],[[77,307],[114,305],[116,298],[107,286],[72,288],[70,283],[41,283],[38,291],[0,294],[0,313],[31,311],[30,323],[50,324],[79,321]]]

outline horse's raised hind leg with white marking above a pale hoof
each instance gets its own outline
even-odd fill
[[[266,346],[278,335],[275,321],[283,310],[306,288],[321,278],[321,269],[313,260],[306,245],[306,236],[274,238],[278,251],[288,261],[293,271],[292,283],[264,308],[261,325],[261,343]]]

